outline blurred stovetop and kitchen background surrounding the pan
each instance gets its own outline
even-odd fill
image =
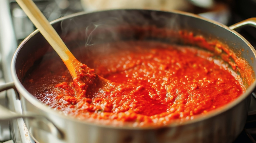
[[[180,10],[195,13],[228,26],[256,17],[256,0],[34,0],[34,2],[49,21],[81,11],[118,8]],[[10,62],[13,53],[19,43],[35,29],[15,0],[0,0],[0,84],[11,81]],[[256,28],[245,27],[238,32],[256,47]],[[15,112],[21,112],[19,100],[11,91],[0,93],[0,104]],[[255,122],[250,123],[246,124],[245,128],[256,127]],[[245,130],[235,142],[254,143],[255,135],[254,130]],[[34,141],[24,127],[22,119],[18,119],[0,121],[1,142],[33,143]]]

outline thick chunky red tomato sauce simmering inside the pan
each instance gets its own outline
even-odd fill
[[[113,50],[90,50],[77,57],[108,79],[95,92],[76,94],[77,83],[59,57],[44,58],[34,66],[24,87],[66,115],[139,126],[194,119],[230,103],[245,90],[223,61],[195,47],[149,41],[101,46]]]

